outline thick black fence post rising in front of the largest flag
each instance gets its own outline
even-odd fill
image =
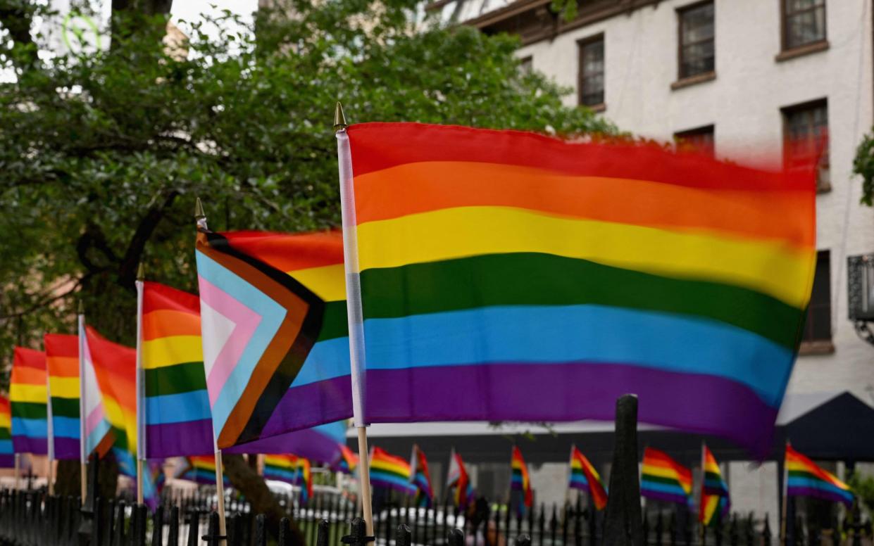
[[[637,477],[637,397],[616,400],[616,444],[610,472],[610,496],[604,521],[604,543],[641,546],[641,487]]]

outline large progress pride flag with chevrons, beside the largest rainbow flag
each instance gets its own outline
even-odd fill
[[[197,263],[218,447],[300,453],[269,439],[350,418],[340,235],[200,232]]]

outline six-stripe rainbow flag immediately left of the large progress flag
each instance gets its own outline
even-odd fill
[[[214,452],[198,296],[142,283],[145,456]]]

